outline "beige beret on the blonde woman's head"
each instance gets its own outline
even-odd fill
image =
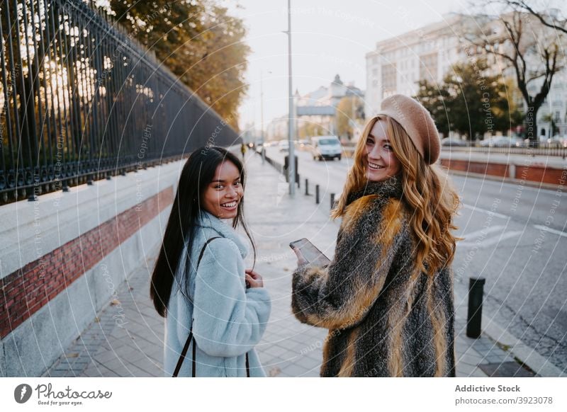
[[[421,103],[408,96],[395,94],[382,101],[377,114],[387,115],[400,123],[426,164],[434,164],[439,159],[441,143],[437,127]]]

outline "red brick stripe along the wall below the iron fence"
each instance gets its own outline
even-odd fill
[[[0,306],[0,338],[23,324],[172,202],[173,187],[169,186],[1,279],[4,299]]]

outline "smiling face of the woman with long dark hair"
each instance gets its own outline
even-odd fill
[[[202,207],[219,219],[234,219],[244,190],[240,171],[232,161],[223,161],[217,166],[215,177],[203,193]]]

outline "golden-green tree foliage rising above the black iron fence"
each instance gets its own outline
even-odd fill
[[[247,85],[242,20],[216,0],[111,0],[116,19],[235,129]]]

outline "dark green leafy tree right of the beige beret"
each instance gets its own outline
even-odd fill
[[[487,71],[481,59],[454,65],[440,85],[420,81],[416,98],[430,110],[439,132],[454,130],[475,139],[520,124],[512,86]]]

